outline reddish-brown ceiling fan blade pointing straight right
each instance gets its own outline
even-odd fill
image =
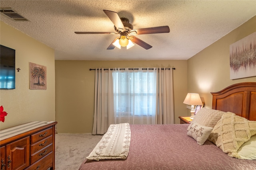
[[[167,25],[160,26],[160,27],[140,28],[140,29],[131,30],[132,35],[169,33],[169,32],[170,32],[170,28]]]

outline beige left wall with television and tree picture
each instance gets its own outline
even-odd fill
[[[30,121],[55,120],[54,49],[0,22],[1,45],[16,50],[16,89],[0,90],[0,106],[8,113],[0,129]],[[47,67],[47,90],[30,90],[29,62]]]

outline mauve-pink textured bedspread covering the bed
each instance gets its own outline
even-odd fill
[[[198,145],[188,124],[130,125],[125,160],[84,161],[79,170],[256,170],[256,160],[229,157],[210,141]]]

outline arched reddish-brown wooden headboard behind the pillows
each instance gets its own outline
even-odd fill
[[[211,94],[212,109],[230,111],[256,121],[256,82],[233,84]]]

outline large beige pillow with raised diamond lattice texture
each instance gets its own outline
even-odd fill
[[[228,156],[239,158],[237,150],[256,134],[256,121],[249,121],[235,113],[226,112],[215,125],[209,141]]]

